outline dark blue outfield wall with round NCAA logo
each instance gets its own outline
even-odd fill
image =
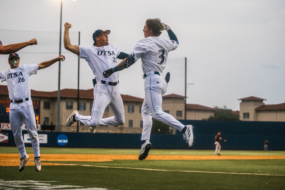
[[[215,135],[220,130],[223,150],[263,150],[265,139],[269,141],[268,150],[285,150],[285,122],[254,121],[203,121],[180,120],[183,124],[192,124],[194,128],[193,149],[215,149]],[[11,130],[2,130],[0,146],[15,146]],[[3,136],[4,134],[4,136]],[[93,147],[93,148],[140,148],[141,134],[119,133],[74,133],[74,132],[38,132],[40,146],[47,147]],[[23,131],[26,146],[31,146],[27,131]],[[187,149],[182,133],[152,134],[152,148]]]

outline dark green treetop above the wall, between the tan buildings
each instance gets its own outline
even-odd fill
[[[227,108],[227,106],[224,107],[218,107],[214,106],[215,109],[217,109],[214,113],[214,116],[210,116],[206,120],[216,120],[216,121],[239,121],[239,116],[234,115],[232,113],[232,110]]]

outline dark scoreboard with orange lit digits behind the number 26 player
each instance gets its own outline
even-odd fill
[[[9,119],[10,99],[0,99],[0,123],[10,123]],[[40,101],[33,101],[36,124],[40,124]]]

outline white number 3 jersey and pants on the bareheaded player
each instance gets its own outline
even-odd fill
[[[152,117],[179,131],[185,127],[172,115],[162,111],[162,95],[166,93],[167,83],[162,76],[168,52],[175,50],[178,43],[160,37],[147,37],[137,42],[131,55],[135,61],[141,58],[144,73],[145,98],[142,106],[143,132],[141,140],[149,140]]]

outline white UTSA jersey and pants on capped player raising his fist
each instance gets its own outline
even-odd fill
[[[75,115],[76,121],[81,121],[89,127],[97,125],[122,125],[125,123],[123,100],[119,91],[119,72],[109,78],[103,77],[103,71],[117,66],[117,56],[120,50],[113,44],[107,46],[79,46],[79,58],[83,58],[96,76],[97,84],[94,86],[94,101],[91,116]],[[114,116],[104,118],[103,113],[110,105]]]

